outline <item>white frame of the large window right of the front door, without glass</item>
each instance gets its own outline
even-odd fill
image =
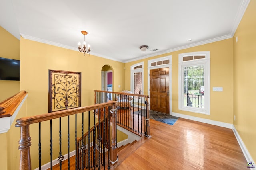
[[[205,58],[183,61],[183,57],[204,55]],[[184,106],[184,67],[204,66],[204,108]],[[178,73],[178,92],[179,92],[179,110],[190,111],[210,115],[210,51],[199,51],[192,53],[179,54],[179,73]]]

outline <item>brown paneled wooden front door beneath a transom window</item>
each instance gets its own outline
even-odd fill
[[[150,110],[169,114],[169,68],[150,70]]]

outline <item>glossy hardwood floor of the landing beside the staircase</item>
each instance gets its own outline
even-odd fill
[[[150,139],[138,141],[140,147],[124,149],[125,160],[115,170],[248,170],[232,129],[182,118],[173,126],[150,119],[150,132]]]

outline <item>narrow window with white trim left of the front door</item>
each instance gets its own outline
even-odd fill
[[[131,91],[134,94],[143,94],[144,62],[131,66]]]

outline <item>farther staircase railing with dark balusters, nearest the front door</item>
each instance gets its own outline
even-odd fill
[[[110,91],[95,91],[95,104],[107,101],[115,101],[117,110],[117,125],[136,133],[137,135],[150,138],[149,125],[149,96]]]

